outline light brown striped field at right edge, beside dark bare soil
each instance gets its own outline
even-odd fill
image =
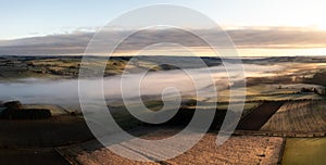
[[[325,106],[325,101],[287,102],[269,118],[261,130],[326,131]]]

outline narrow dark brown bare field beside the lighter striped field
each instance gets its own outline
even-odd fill
[[[259,130],[284,102],[265,102],[243,117],[237,129],[239,130]]]

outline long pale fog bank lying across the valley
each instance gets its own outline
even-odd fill
[[[241,72],[238,71],[240,65],[231,65],[228,76],[234,80],[241,78]],[[283,66],[278,65],[243,65],[247,77],[273,76],[275,73],[283,71]],[[186,72],[191,75],[187,75]],[[196,68],[184,71],[164,71],[150,72],[143,76],[140,85],[138,84],[141,75],[130,74],[123,76],[111,76],[103,79],[104,94],[106,101],[116,101],[121,99],[122,87],[126,98],[137,98],[138,88],[141,96],[160,96],[162,91],[168,87],[178,89],[183,96],[195,94],[195,91],[201,94],[214,94],[210,88],[215,84],[218,90],[225,89],[228,85],[227,74],[224,66],[215,66],[205,68]],[[210,74],[211,73],[211,74]],[[211,76],[214,78],[212,81]],[[92,85],[97,85],[98,79],[84,80],[87,84],[87,96],[97,100],[101,93],[92,89]],[[195,88],[196,86],[196,88]],[[83,87],[80,87],[83,88]],[[166,94],[168,90],[165,91]],[[38,104],[59,104],[59,105],[78,105],[78,79],[64,80],[46,80],[46,79],[21,79],[15,82],[0,82],[0,101],[20,100],[23,103]]]

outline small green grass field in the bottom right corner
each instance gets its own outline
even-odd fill
[[[286,141],[284,165],[325,165],[326,138],[289,138]]]

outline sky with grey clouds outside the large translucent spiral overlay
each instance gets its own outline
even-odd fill
[[[7,0],[0,5],[0,54],[24,54],[27,50],[32,55],[83,53],[89,36],[113,18],[160,3],[184,5],[205,14],[229,33],[242,55],[326,54],[324,0]],[[68,43],[66,38],[72,37],[75,41]],[[39,51],[45,42],[48,48]],[[50,49],[51,43],[55,51]]]

